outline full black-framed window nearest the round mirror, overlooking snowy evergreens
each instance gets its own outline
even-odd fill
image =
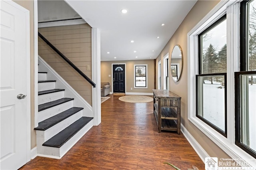
[[[196,75],[196,117],[227,136],[226,15],[198,35],[199,75]]]

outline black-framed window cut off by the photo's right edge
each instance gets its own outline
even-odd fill
[[[240,5],[240,71],[235,73],[236,145],[256,158],[256,1]]]

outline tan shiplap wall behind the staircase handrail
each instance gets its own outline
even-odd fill
[[[92,79],[92,28],[88,24],[38,28],[78,69]],[[92,105],[92,86],[38,37],[38,55]],[[89,69],[86,69],[88,65]]]

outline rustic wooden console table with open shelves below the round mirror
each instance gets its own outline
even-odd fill
[[[180,100],[181,97],[168,90],[156,90],[154,93],[154,115],[161,130],[177,131],[180,134]]]

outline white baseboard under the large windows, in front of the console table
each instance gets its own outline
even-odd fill
[[[181,131],[184,134],[185,138],[188,140],[188,142],[191,144],[192,148],[196,151],[198,156],[201,158],[201,160],[204,162],[204,159],[206,157],[210,157],[207,152],[200,146],[200,144],[193,138],[193,136],[188,132],[188,130],[181,124]],[[204,162],[205,163],[205,162]]]

